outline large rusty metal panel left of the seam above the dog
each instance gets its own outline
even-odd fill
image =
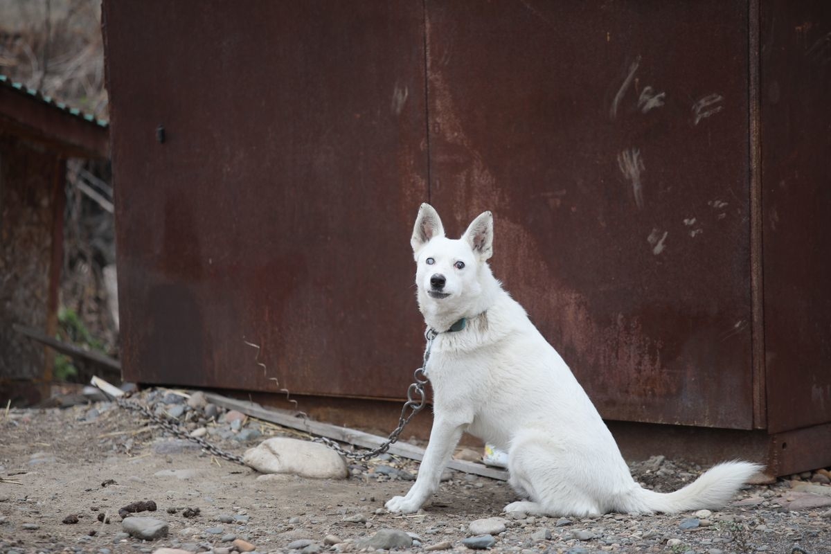
[[[423,341],[421,4],[103,15],[125,377],[403,395]]]

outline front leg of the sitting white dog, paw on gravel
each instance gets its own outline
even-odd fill
[[[459,444],[464,424],[457,424],[447,419],[436,418],[433,429],[430,430],[430,443],[421,460],[416,483],[410,492],[403,497],[393,497],[386,502],[386,509],[390,512],[412,513],[417,512],[430,495],[439,488],[441,472],[450,460],[456,444]]]

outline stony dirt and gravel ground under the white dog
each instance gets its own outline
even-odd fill
[[[170,392],[140,399],[232,453],[270,436],[306,438]],[[410,460],[384,455],[344,480],[262,478],[148,423],[107,402],[0,412],[0,552],[831,552],[824,469],[749,486],[717,512],[592,519],[506,517],[517,498],[505,483],[446,472],[432,505],[401,517],[383,505],[410,487]],[[701,471],[661,456],[632,463],[659,491]],[[132,503],[144,511],[122,509]],[[159,520],[155,531],[148,519]]]

